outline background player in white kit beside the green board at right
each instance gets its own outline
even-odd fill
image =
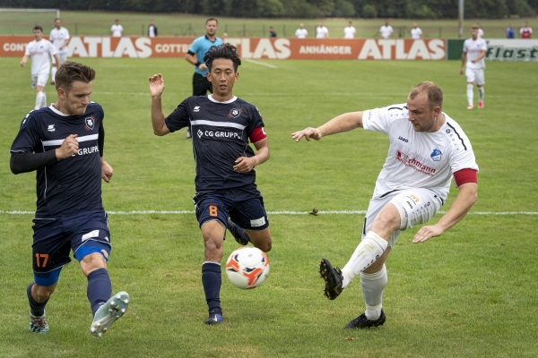
[[[467,38],[464,41],[464,52],[462,53],[462,67],[460,68],[460,74],[464,74],[467,77],[467,109],[473,109],[473,84],[476,83],[478,89],[478,107],[484,107],[484,69],[486,64],[484,57],[488,46],[486,40],[478,37],[478,26],[471,28],[471,38]]]

